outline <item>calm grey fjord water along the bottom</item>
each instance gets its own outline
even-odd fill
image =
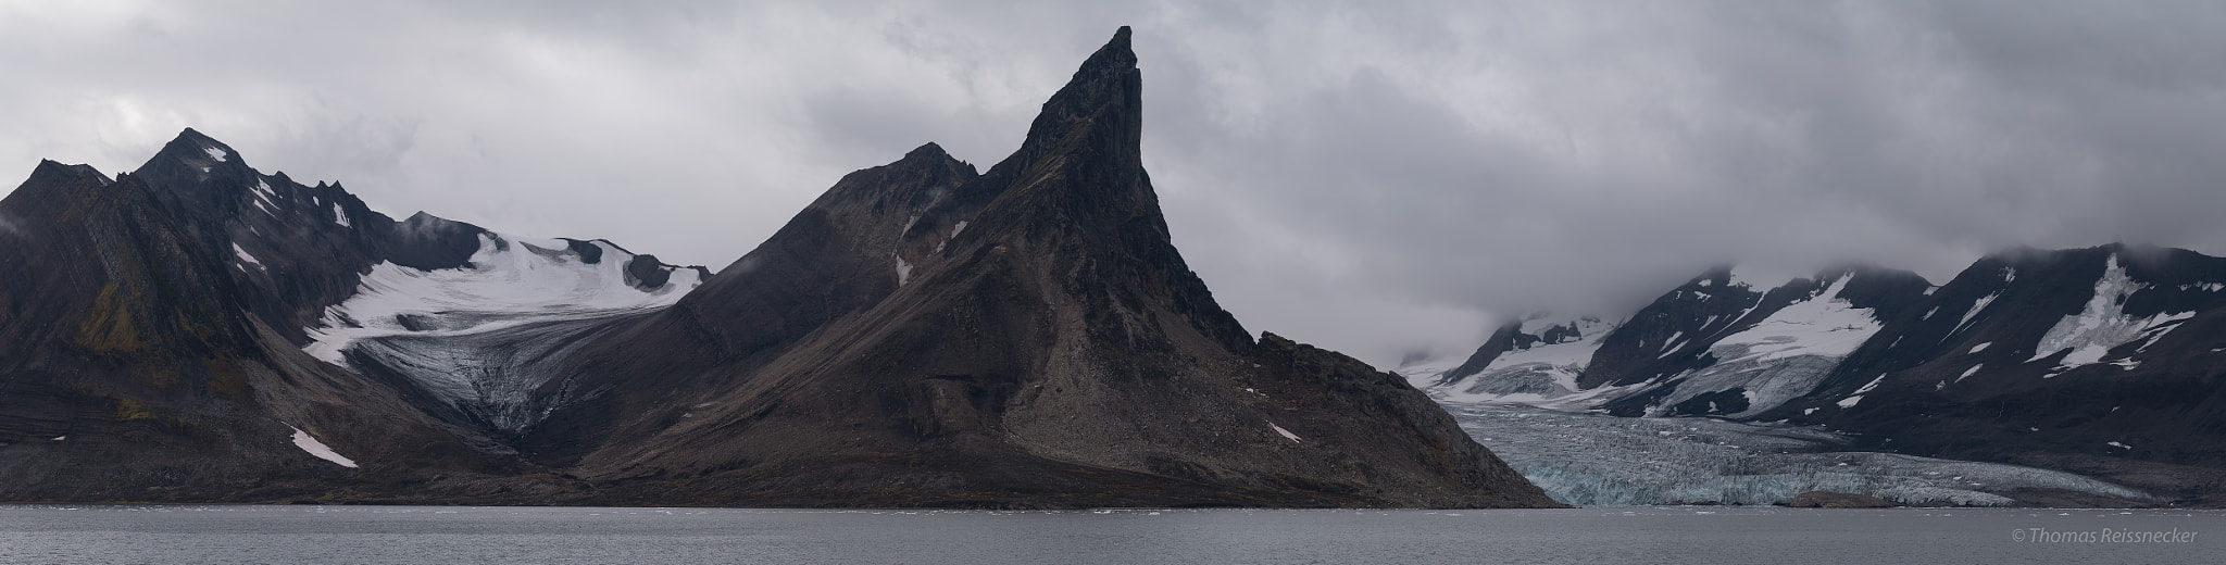
[[[2190,509],[4,505],[0,563],[2206,563]],[[2179,532],[2126,541],[2110,532]]]

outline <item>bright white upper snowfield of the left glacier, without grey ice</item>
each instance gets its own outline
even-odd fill
[[[465,336],[543,320],[601,318],[670,307],[701,285],[697,269],[672,269],[663,287],[641,289],[626,274],[634,254],[610,242],[585,262],[568,240],[481,234],[461,269],[423,271],[378,262],[356,296],[325,309],[303,351],[347,365],[343,351],[381,336]]]

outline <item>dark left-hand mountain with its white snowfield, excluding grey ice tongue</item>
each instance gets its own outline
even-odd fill
[[[445,282],[519,298],[521,271],[601,260],[623,274],[552,300],[654,305],[699,274],[608,242],[396,222],[191,129],[114,180],[40,162],[0,225],[0,498],[16,500],[554,496],[563,480],[485,416],[383,378],[403,371],[370,345],[470,327]]]

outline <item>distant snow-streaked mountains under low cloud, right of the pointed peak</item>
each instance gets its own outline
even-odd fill
[[[2066,469],[2226,503],[2226,258],[2104,245],[1877,267],[1712,269],[1629,316],[1507,323],[1445,400],[1819,425],[1856,449]]]

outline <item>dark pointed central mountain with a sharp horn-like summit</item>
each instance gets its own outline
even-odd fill
[[[988,174],[846,176],[574,356],[521,447],[617,503],[1554,505],[1400,378],[1251,340],[1166,236],[1140,91],[1122,29]]]

